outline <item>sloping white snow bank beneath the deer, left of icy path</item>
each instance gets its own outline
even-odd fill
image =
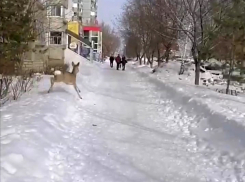
[[[1,108],[1,182],[64,181],[63,174],[68,170],[63,156],[66,147],[74,147],[70,154],[73,159],[78,156],[77,144],[65,144],[74,137],[67,128],[83,125],[77,118],[74,89],[56,85],[59,97],[47,94],[50,83],[46,76],[40,85],[38,92],[25,94],[23,99]]]

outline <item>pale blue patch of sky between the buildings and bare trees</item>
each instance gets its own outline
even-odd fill
[[[98,20],[114,25],[126,0],[98,0]]]

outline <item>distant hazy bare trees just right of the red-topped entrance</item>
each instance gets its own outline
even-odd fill
[[[102,22],[100,24],[102,30],[102,53],[103,57],[115,54],[120,47],[120,38],[110,25]]]

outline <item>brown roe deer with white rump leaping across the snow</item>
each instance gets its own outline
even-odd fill
[[[80,99],[82,99],[82,97],[79,94],[80,89],[77,87],[76,84],[76,77],[77,77],[77,73],[79,72],[79,63],[75,65],[72,62],[72,66],[73,69],[71,73],[66,70],[64,70],[63,72],[54,72],[54,77],[50,78],[51,86],[48,90],[48,93],[52,90],[54,83],[63,82],[67,85],[73,85],[74,89],[77,92],[77,95],[79,96]]]

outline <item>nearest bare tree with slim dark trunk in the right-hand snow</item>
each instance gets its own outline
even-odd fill
[[[199,85],[200,64],[209,58],[215,46],[210,41],[210,32],[218,32],[220,26],[213,21],[214,3],[228,3],[228,0],[164,0],[169,15],[176,20],[177,30],[183,32],[191,42],[191,52],[195,61],[195,84]],[[174,8],[173,8],[174,7]]]

